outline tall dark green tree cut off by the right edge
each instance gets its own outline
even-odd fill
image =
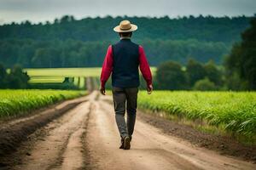
[[[256,18],[251,26],[241,34],[241,42],[236,43],[226,59],[228,81],[240,79],[240,89],[256,89]],[[236,77],[236,78],[235,78]],[[230,88],[236,86],[229,82]]]

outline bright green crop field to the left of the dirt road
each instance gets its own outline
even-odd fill
[[[85,93],[85,91],[71,90],[0,90],[0,117],[25,114],[28,111],[64,99],[73,99]]]

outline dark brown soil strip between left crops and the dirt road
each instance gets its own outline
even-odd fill
[[[5,167],[3,159],[19,147],[22,141],[35,133],[38,128],[44,127],[49,122],[62,116],[76,105],[87,100],[87,96],[78,99],[69,99],[54,105],[32,111],[27,115],[11,117],[9,120],[0,121],[0,168]]]

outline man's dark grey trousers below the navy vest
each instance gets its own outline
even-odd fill
[[[134,130],[137,110],[138,88],[116,88],[113,87],[113,106],[115,120],[122,138],[131,136]],[[125,122],[125,106],[127,119]]]

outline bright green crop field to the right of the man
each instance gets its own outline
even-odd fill
[[[232,133],[256,135],[255,92],[154,91],[148,95],[143,91],[138,106],[222,126]]]

